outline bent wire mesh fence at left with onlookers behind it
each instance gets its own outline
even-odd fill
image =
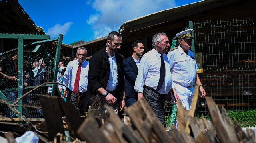
[[[35,47],[24,48],[24,55],[17,60],[14,58],[18,53],[18,48],[14,51],[6,52],[0,55],[0,75],[1,92],[6,96],[10,104],[15,102],[18,97],[18,72],[23,72],[23,94],[32,90],[36,86],[45,82],[52,82],[54,78],[54,62],[57,47],[45,47],[45,51],[36,51]],[[20,55],[18,55],[20,57]],[[23,71],[18,71],[18,60],[22,60]],[[7,75],[7,76],[6,76]],[[12,78],[13,79],[12,79]],[[38,94],[51,94],[51,85],[42,86],[26,95],[21,104],[22,115],[26,118],[43,118],[43,112],[40,108]],[[1,97],[2,98],[2,97]],[[3,98],[2,98],[3,99]],[[16,107],[16,109],[17,109]],[[0,104],[0,111],[4,117],[15,118],[16,115],[4,104]]]

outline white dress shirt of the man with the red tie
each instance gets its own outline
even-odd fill
[[[70,88],[70,90],[72,91],[74,90],[74,84],[76,80],[76,72],[77,72],[78,66],[79,66],[78,60],[70,61],[63,75],[63,84],[68,88]],[[84,93],[87,91],[88,70],[89,70],[89,62],[84,61],[83,63],[81,63],[81,73],[80,73],[78,92]],[[63,87],[63,89],[66,90],[65,87]]]

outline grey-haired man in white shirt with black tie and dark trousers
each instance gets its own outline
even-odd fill
[[[155,33],[152,39],[153,49],[142,57],[134,86],[138,92],[138,100],[145,96],[164,127],[165,100],[172,88],[170,65],[165,55],[169,46],[166,33]]]

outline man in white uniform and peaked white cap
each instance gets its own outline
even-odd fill
[[[190,110],[194,92],[194,83],[199,86],[204,98],[205,91],[196,73],[197,64],[194,53],[190,50],[192,45],[192,29],[188,29],[176,34],[178,37],[178,47],[170,49],[167,57],[172,73],[172,92],[175,100],[179,99],[186,110]],[[176,101],[174,101],[176,103]],[[175,123],[176,124],[176,123]]]

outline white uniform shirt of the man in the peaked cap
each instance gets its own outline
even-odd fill
[[[171,50],[168,54],[168,61],[174,83],[184,87],[191,87],[196,80],[197,64],[193,51],[188,50],[188,55],[178,46],[178,49]]]

